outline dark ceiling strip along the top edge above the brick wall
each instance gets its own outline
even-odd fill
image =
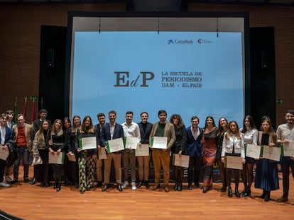
[[[250,6],[294,6],[294,0],[0,0],[7,4],[87,4],[87,3],[123,3],[128,11],[187,11],[187,5],[227,4]]]

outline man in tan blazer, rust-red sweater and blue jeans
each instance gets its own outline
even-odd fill
[[[18,169],[23,159],[23,181],[29,183],[28,179],[28,157],[33,150],[33,126],[25,122],[23,114],[17,115],[17,125],[12,127],[13,141],[16,142],[18,158],[14,163],[13,183],[18,182]]]

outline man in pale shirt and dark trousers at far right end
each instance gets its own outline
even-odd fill
[[[286,123],[279,125],[277,129],[278,144],[286,144],[294,142],[294,110],[288,110],[285,113]],[[294,178],[294,155],[281,157],[281,168],[283,173],[283,195],[277,199],[277,202],[287,202],[289,195],[289,175],[290,168]]]

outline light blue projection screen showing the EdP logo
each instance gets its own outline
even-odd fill
[[[126,28],[127,29],[127,28]],[[140,28],[139,28],[140,29]],[[148,28],[147,28],[148,29]],[[174,113],[190,125],[193,115],[244,117],[244,31],[75,30],[72,33],[70,116],[116,110]]]

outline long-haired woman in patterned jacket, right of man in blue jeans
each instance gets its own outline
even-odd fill
[[[35,134],[33,140],[33,161],[42,161],[42,163],[34,164],[36,170],[35,178],[37,182],[40,182],[40,187],[49,187],[49,160],[48,160],[48,141],[50,139],[50,125],[47,120],[43,120],[40,123],[40,128]]]

